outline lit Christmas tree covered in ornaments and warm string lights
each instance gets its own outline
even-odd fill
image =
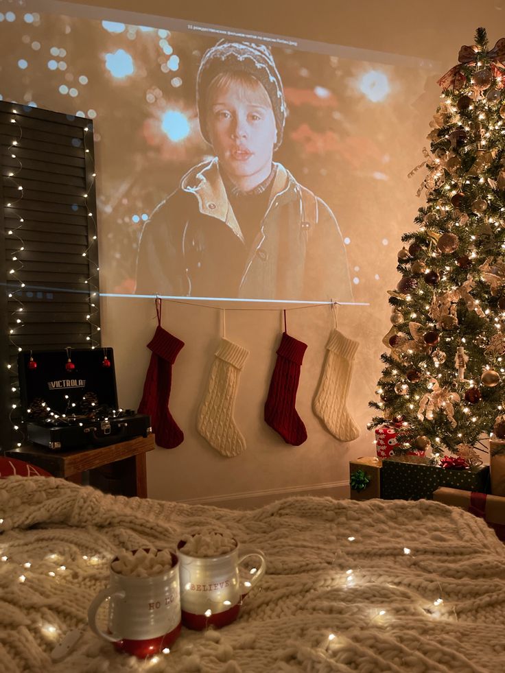
[[[458,60],[438,82],[426,204],[402,236],[368,427],[395,423],[395,453],[468,464],[505,436],[505,38],[489,50],[478,28]]]

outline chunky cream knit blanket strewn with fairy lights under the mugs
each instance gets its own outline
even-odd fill
[[[230,531],[268,560],[222,630],[183,628],[139,660],[86,628],[121,548]],[[505,547],[432,501],[283,499],[231,511],[127,499],[43,477],[0,480],[0,670],[174,673],[498,673],[505,670]],[[67,658],[51,661],[82,628]]]

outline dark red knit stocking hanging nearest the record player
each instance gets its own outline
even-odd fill
[[[140,414],[151,416],[154,439],[158,447],[174,449],[184,440],[183,431],[174,421],[168,409],[170,388],[172,388],[172,365],[183,348],[184,342],[161,327],[161,306],[158,310],[158,327],[148,344],[152,351],[144,390],[139,405]]]

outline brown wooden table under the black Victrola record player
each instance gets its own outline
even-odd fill
[[[115,495],[148,497],[145,453],[154,449],[154,435],[79,451],[51,451],[40,444],[27,444],[6,451],[11,458],[42,467],[54,477],[82,484],[89,471],[89,484]]]

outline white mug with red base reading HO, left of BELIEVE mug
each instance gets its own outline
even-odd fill
[[[137,550],[135,550],[137,552]],[[133,552],[133,554],[135,554]],[[110,641],[117,650],[148,657],[169,648],[180,633],[180,593],[178,559],[172,567],[151,577],[121,575],[110,567],[110,585],[100,591],[89,606],[91,630]],[[96,623],[99,606],[110,598],[108,633]]]

